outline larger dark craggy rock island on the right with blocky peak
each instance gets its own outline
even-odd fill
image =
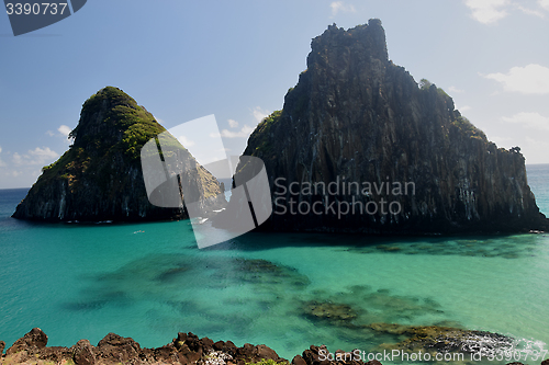
[[[547,229],[519,149],[462,117],[388,58],[381,22],[312,41],[307,69],[244,155],[261,158],[264,228],[393,233]]]

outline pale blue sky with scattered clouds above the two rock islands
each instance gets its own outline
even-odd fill
[[[393,62],[442,88],[498,147],[549,163],[549,0],[89,0],[20,36],[0,14],[0,189],[30,187],[107,85],[166,128],[215,115],[240,155],[282,109],[311,39],[372,18]]]

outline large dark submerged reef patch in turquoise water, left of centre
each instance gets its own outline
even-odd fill
[[[86,277],[82,283],[81,295],[61,305],[65,310],[102,310],[108,306],[133,306],[153,300],[168,304],[179,318],[215,317],[225,321],[224,326],[226,321],[238,319],[235,324],[242,327],[250,319],[234,313],[221,318],[220,313],[226,310],[269,312],[288,300],[288,293],[301,293],[310,280],[293,267],[267,260],[156,254]],[[243,285],[247,286],[245,290],[234,292]],[[227,298],[227,295],[234,296]]]

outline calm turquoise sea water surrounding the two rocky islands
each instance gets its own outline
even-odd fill
[[[549,164],[527,168],[548,215]],[[191,331],[266,343],[287,358],[311,344],[368,351],[400,341],[363,329],[373,322],[453,324],[549,344],[549,235],[249,233],[199,250],[188,221],[10,218],[25,194],[0,191],[0,340],[8,346],[34,327],[49,345],[96,344],[115,332],[150,347]],[[314,303],[349,306],[355,327],[311,317]]]

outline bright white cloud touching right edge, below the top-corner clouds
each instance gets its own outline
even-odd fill
[[[549,68],[540,65],[513,67],[507,73],[489,73],[484,78],[502,83],[505,91],[525,94],[549,93]]]

